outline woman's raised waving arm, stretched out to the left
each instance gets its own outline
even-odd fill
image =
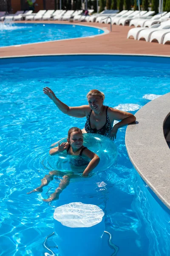
[[[57,108],[59,108],[62,113],[67,114],[68,116],[74,116],[74,117],[85,117],[86,112],[90,111],[90,108],[88,105],[82,105],[79,107],[69,107],[65,103],[61,102],[54,94],[54,92],[48,88],[43,88],[43,92],[55,103]]]

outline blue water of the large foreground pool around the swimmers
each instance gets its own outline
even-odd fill
[[[43,246],[54,231],[54,207],[76,201],[103,209],[117,256],[170,255],[170,214],[133,169],[125,127],[118,131],[118,158],[107,172],[71,182],[51,206],[42,198],[54,192],[57,178],[42,193],[26,195],[49,172],[51,143],[71,126],[85,124],[85,118],[61,113],[43,87],[70,106],[87,104],[86,94],[96,88],[105,93],[105,105],[134,114],[170,91],[169,65],[169,58],[111,55],[0,59],[0,255],[58,255]],[[48,246],[54,246],[52,238]],[[101,255],[114,253],[106,234],[102,250]]]

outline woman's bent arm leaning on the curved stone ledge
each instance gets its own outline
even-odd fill
[[[111,140],[114,140],[114,138],[116,139],[116,133],[120,127],[123,127],[136,121],[136,117],[129,112],[121,111],[114,108],[109,108],[109,112],[112,120],[121,120],[113,126],[113,129],[110,134]]]

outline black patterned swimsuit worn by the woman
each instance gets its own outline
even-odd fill
[[[87,121],[85,123],[85,131],[87,133],[95,133],[95,134],[101,134],[101,135],[105,135],[106,137],[110,135],[111,130],[112,130],[112,126],[111,126],[111,122],[109,120],[108,117],[108,107],[106,108],[106,122],[105,125],[97,130],[96,128],[92,129],[90,126],[90,116],[91,116],[91,112],[92,110],[89,112],[88,117],[87,117]]]

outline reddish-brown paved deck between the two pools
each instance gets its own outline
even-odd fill
[[[25,23],[19,21],[18,23]],[[17,22],[16,22],[17,23]],[[35,23],[27,21],[26,23]],[[68,21],[36,21],[36,23],[60,23],[77,24],[106,28],[110,31],[109,24],[88,23],[88,22],[68,22]],[[127,39],[127,32],[132,27],[112,26],[112,32],[94,38],[77,38],[71,40],[51,41],[40,44],[27,44],[19,47],[0,47],[0,57],[22,56],[22,55],[43,55],[43,54],[73,54],[73,53],[117,53],[117,54],[149,54],[149,55],[170,55],[169,44],[149,43]]]

